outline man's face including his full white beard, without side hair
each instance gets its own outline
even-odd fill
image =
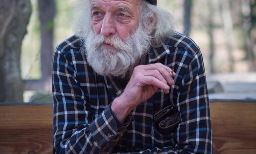
[[[83,34],[86,60],[100,75],[131,74],[150,48],[138,0],[92,0],[91,27]],[[83,20],[83,17],[81,17]]]

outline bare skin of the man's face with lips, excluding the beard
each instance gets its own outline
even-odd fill
[[[92,0],[91,26],[96,35],[125,40],[139,25],[139,0]],[[114,48],[103,43],[102,47]]]

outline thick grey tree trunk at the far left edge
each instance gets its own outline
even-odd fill
[[[23,102],[20,54],[31,10],[30,0],[1,0],[0,102]]]

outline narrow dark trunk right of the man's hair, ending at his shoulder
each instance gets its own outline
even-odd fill
[[[189,32],[191,29],[191,8],[192,8],[192,0],[184,0],[184,35],[189,36]]]

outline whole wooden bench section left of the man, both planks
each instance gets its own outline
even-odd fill
[[[0,106],[0,154],[52,153],[52,108]]]

